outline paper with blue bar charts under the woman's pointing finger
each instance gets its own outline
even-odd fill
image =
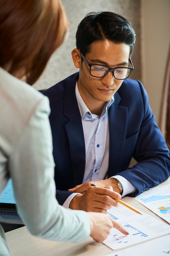
[[[170,225],[161,220],[140,211],[142,215],[137,214],[124,205],[112,207],[107,214],[118,221],[129,232],[128,236],[123,235],[117,229],[111,229],[111,233],[106,240],[105,245],[113,250],[134,245],[140,242],[146,242],[149,239],[157,238],[170,234]]]

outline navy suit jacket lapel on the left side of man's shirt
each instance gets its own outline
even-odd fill
[[[69,121],[65,124],[70,147],[70,158],[74,177],[74,186],[83,182],[85,171],[85,143],[81,115],[75,95],[75,85],[78,76],[74,77],[66,87],[63,114]]]

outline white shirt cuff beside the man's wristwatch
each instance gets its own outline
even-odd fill
[[[110,178],[114,178],[122,184],[122,187],[123,187],[122,197],[124,197],[125,195],[128,195],[128,194],[131,194],[131,193],[135,193],[137,191],[135,186],[133,186],[133,184],[131,184],[131,182],[129,182],[129,180],[126,180],[126,178],[121,175],[115,175]]]

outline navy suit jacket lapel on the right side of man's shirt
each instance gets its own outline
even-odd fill
[[[118,92],[116,92],[114,98],[115,101],[109,108],[109,177],[119,171],[122,158],[122,154],[120,154],[120,152],[123,153],[124,150],[127,127],[127,108],[118,105],[121,100]]]

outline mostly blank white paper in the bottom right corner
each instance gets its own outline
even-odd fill
[[[170,254],[170,235],[162,236],[154,240],[123,249],[119,252],[113,252],[107,256],[166,256]]]

